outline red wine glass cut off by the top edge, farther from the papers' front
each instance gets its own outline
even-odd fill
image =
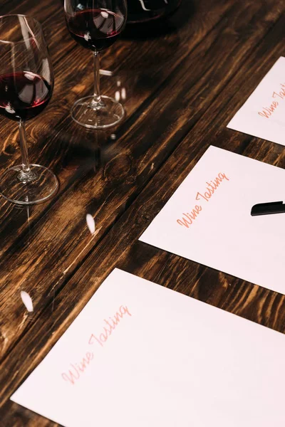
[[[71,117],[78,125],[90,129],[117,125],[125,110],[113,98],[100,95],[99,55],[117,40],[125,27],[126,0],[65,0],[64,9],[71,36],[94,55],[94,95],[76,101]]]

